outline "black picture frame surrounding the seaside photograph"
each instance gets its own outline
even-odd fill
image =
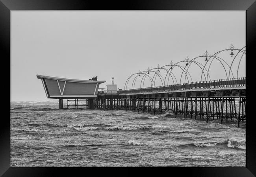
[[[246,46],[247,46],[247,125],[246,125],[246,167],[218,167],[218,168],[165,168],[167,175],[178,173],[178,176],[189,175],[197,177],[225,176],[243,177],[256,175],[256,129],[253,116],[254,100],[254,52],[256,51],[256,2],[255,0],[130,0],[130,1],[102,1],[96,0],[0,0],[0,50],[2,68],[10,65],[10,11],[11,10],[246,10]],[[9,61],[9,62],[8,62]],[[11,71],[11,68],[10,68]],[[11,72],[9,72],[10,74]],[[2,75],[2,82],[10,83],[10,78]],[[11,85],[10,85],[11,88]],[[10,92],[10,88],[4,88]],[[4,91],[2,91],[3,93]],[[11,98],[11,92],[10,92]],[[8,110],[7,103],[2,105],[2,112]],[[5,108],[6,107],[6,108]],[[59,176],[89,173],[107,173],[111,175],[117,168],[20,168],[10,167],[10,122],[7,116],[1,117],[0,123],[0,175],[2,176]],[[99,170],[100,169],[100,170]],[[118,168],[122,174],[130,173],[130,168]],[[161,174],[163,168],[140,168],[139,170]],[[120,173],[119,173],[120,174]]]

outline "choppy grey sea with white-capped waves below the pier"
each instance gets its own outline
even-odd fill
[[[58,107],[10,103],[11,167],[246,166],[246,123]]]

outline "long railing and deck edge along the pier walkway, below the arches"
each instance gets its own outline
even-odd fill
[[[179,90],[206,90],[206,89],[220,89],[220,88],[239,88],[246,87],[246,77],[232,78],[232,79],[218,79],[213,81],[197,81],[192,83],[182,83],[176,85],[147,87],[140,89],[130,89],[117,91],[118,94],[131,93],[147,93],[147,92],[173,92]]]

